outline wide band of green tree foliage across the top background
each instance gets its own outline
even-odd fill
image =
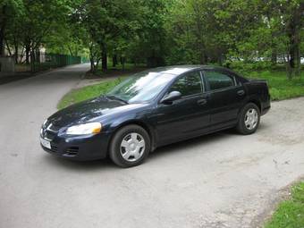
[[[300,75],[301,0],[3,0],[0,7],[0,41],[4,32],[12,55],[45,46],[89,57],[92,72],[99,63],[105,71],[110,57],[122,68],[212,63],[246,72],[284,63],[290,79]]]

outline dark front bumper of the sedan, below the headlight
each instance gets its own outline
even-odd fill
[[[50,137],[40,136],[50,140],[51,148],[41,147],[54,156],[61,156],[72,160],[87,161],[105,158],[110,139],[106,132],[84,136],[58,136],[56,133]],[[51,138],[51,139],[50,139]]]

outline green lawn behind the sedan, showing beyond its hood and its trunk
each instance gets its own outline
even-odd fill
[[[304,96],[304,72],[301,72],[301,79],[296,78],[288,80],[283,71],[269,72],[249,72],[244,74],[248,78],[265,79],[268,81],[272,100],[283,100],[292,97]],[[121,78],[107,80],[96,85],[87,86],[81,89],[72,89],[68,92],[58,104],[58,109],[70,106],[91,97],[97,97],[112,89]]]

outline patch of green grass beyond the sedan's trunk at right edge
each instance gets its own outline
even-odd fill
[[[286,72],[249,72],[244,74],[248,78],[264,79],[268,81],[272,100],[283,100],[304,96],[304,72],[301,77],[288,80]]]

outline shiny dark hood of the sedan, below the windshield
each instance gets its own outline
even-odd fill
[[[78,104],[68,106],[47,119],[58,127],[69,126],[82,122],[89,122],[106,114],[114,114],[130,110],[140,104],[125,104],[122,101],[106,97],[96,97]]]

